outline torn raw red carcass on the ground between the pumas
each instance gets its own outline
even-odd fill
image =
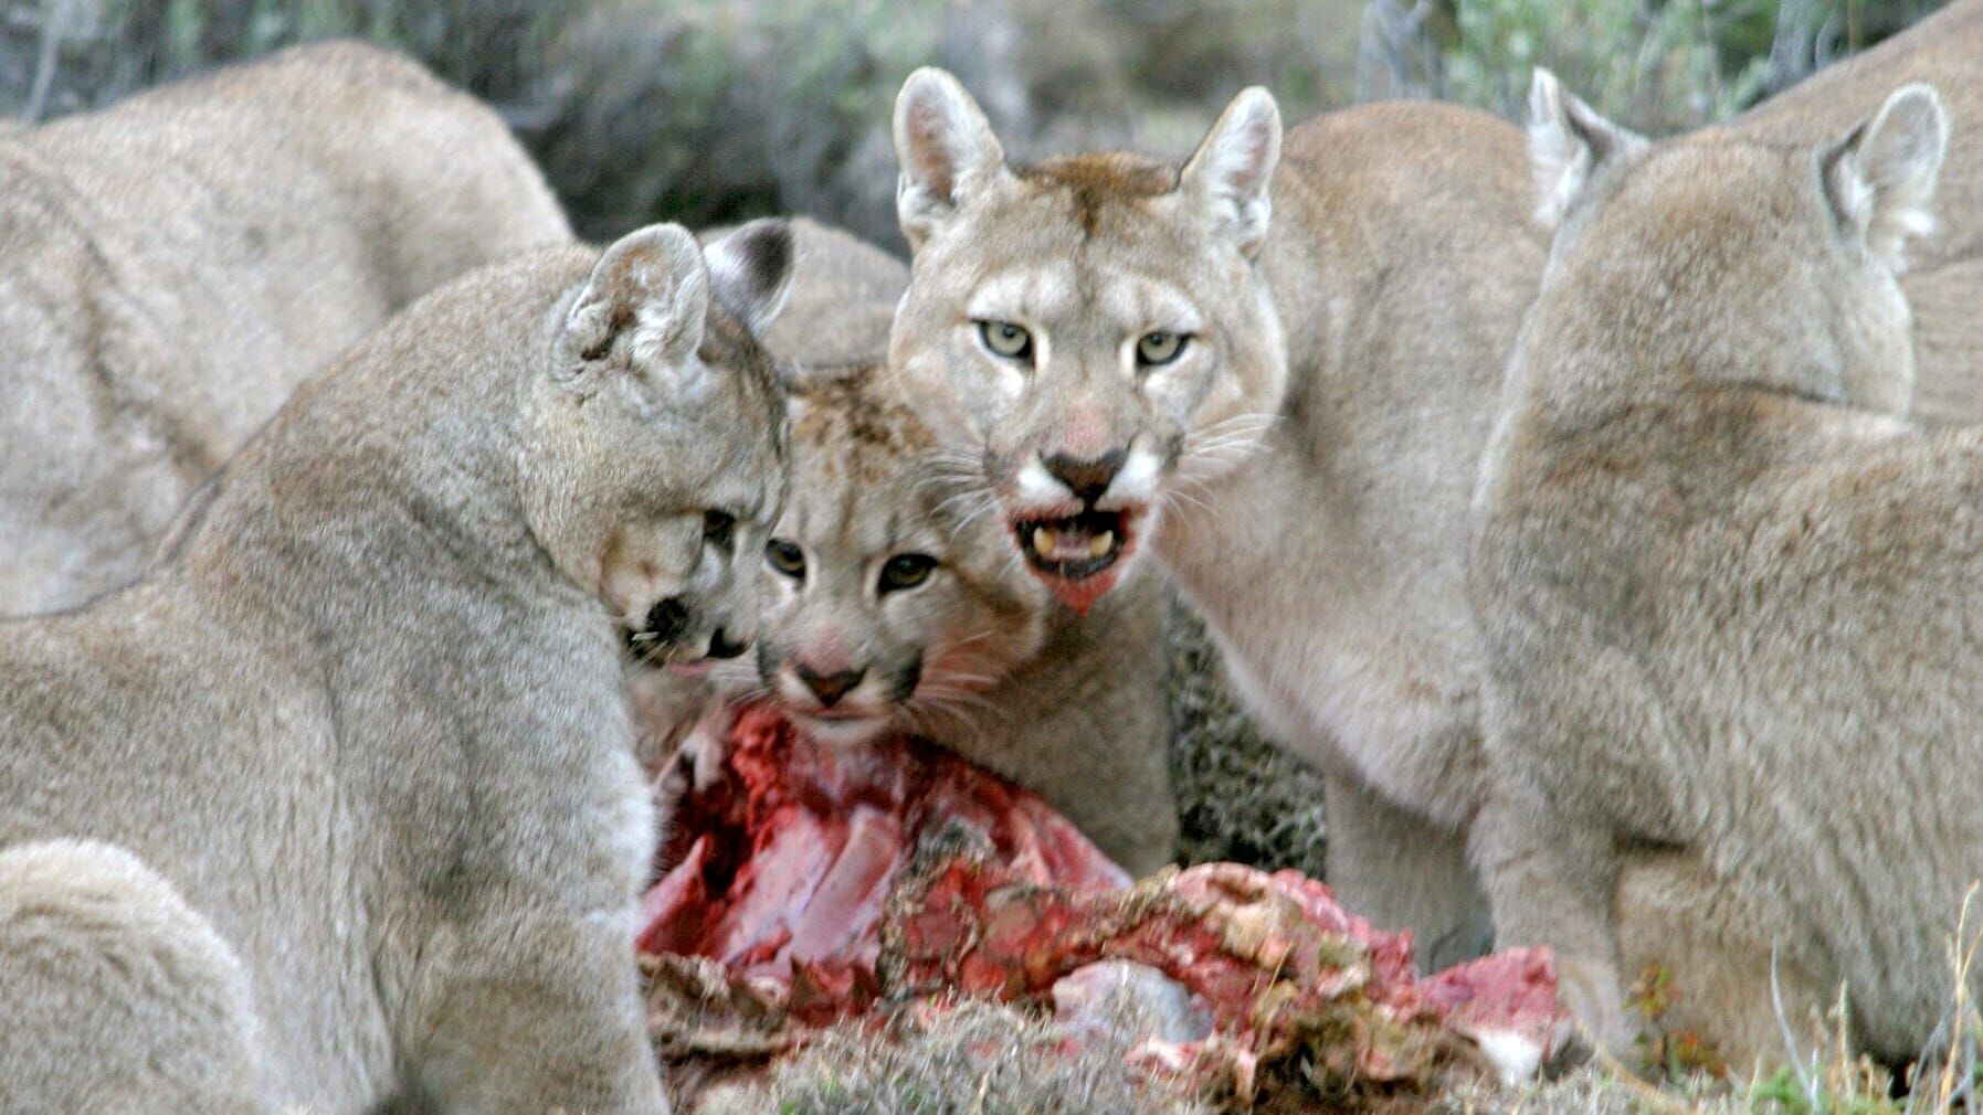
[[[1543,951],[1418,978],[1410,935],[1295,871],[1130,885],[1043,800],[934,747],[821,747],[748,709],[720,770],[682,796],[642,909],[674,1062],[773,1056],[880,998],[978,994],[1112,1032],[1243,1107],[1291,1071],[1305,1087],[1527,1073],[1563,1028]]]

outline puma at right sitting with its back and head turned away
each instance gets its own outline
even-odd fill
[[[1908,1058],[1983,875],[1983,432],[1904,416],[1941,103],[1902,87],[1818,145],[1646,143],[1543,73],[1533,113],[1557,238],[1469,566],[1501,941],[1555,947],[1622,1046],[1620,863],[1678,856],[1668,919],[1735,937],[1703,957],[1761,988],[1721,1028],[1773,1034],[1775,963]]]

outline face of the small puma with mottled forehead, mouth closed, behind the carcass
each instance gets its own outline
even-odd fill
[[[813,372],[789,410],[793,495],[761,551],[771,586],[752,681],[837,745],[966,727],[976,693],[1039,652],[1045,588],[873,368]],[[740,673],[720,679],[736,687]]]

